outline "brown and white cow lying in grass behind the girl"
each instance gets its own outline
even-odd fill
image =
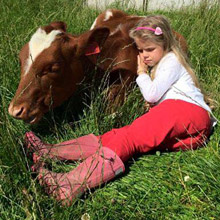
[[[75,92],[86,77],[85,68],[94,64],[108,71],[114,82],[109,99],[119,94],[123,97],[136,76],[138,52],[128,33],[139,19],[107,10],[89,31],[78,36],[67,33],[63,22],[40,27],[20,51],[21,79],[9,114],[31,124],[38,122],[51,107],[59,106]],[[186,50],[185,39],[175,34]]]

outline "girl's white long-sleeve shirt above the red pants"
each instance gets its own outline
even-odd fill
[[[200,89],[194,85],[191,75],[173,52],[160,60],[154,80],[143,73],[136,78],[136,82],[147,102],[159,104],[166,99],[180,99],[211,112]]]

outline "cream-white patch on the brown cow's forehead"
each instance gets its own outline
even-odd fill
[[[31,37],[29,42],[29,56],[26,62],[25,74],[28,73],[31,64],[36,57],[46,48],[50,47],[56,36],[61,33],[59,30],[53,30],[50,33],[46,33],[45,30],[39,28],[35,34]]]

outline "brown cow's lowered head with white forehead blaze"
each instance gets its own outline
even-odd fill
[[[21,78],[9,114],[33,124],[60,105],[83,79],[82,60],[90,45],[102,44],[108,35],[108,28],[97,28],[73,36],[63,22],[39,28],[20,51]]]

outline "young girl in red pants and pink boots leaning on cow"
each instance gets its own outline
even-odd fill
[[[63,203],[71,204],[86,189],[124,172],[124,163],[137,153],[196,149],[210,134],[211,110],[166,18],[143,18],[130,37],[139,50],[137,84],[144,99],[154,105],[149,112],[103,135],[89,134],[56,145],[26,133],[36,164],[46,157],[82,160],[68,173],[51,172],[43,163],[38,166],[40,184]]]

